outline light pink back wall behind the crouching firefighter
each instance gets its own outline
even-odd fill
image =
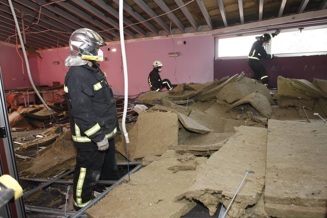
[[[186,44],[177,44],[177,41],[186,41]],[[204,83],[212,81],[213,62],[215,56],[215,41],[211,35],[174,38],[175,50],[180,52],[177,59],[176,79],[179,83],[195,82]],[[110,48],[110,51],[108,51]],[[111,52],[116,48],[116,52]],[[124,93],[124,73],[121,69],[122,58],[120,44],[109,44],[101,47],[104,57],[108,61],[100,62],[101,70],[107,73],[107,80],[112,85],[114,94]],[[169,52],[174,52],[174,47],[170,37],[167,39],[145,40],[139,42],[125,43],[129,95],[149,90],[147,76],[152,70],[154,60],[163,62],[161,72],[162,79],[168,78],[173,84],[177,83],[174,77],[175,58],[168,57]],[[41,52],[42,60],[38,60],[40,68],[41,85],[52,85],[52,81],[63,83],[67,67],[60,60],[65,60],[69,49]],[[53,61],[60,61],[59,65],[53,65]]]

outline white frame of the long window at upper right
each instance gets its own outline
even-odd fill
[[[316,26],[306,26],[302,30],[310,30],[310,29],[321,29],[321,28],[327,28],[327,25],[316,25]],[[245,32],[248,30],[244,30]],[[295,28],[288,28],[288,29],[282,29],[281,33],[284,32],[295,32],[299,31],[299,27]],[[251,35],[262,35],[264,33],[274,33],[275,30],[272,31],[257,31],[257,32],[250,32],[250,33],[237,33],[232,35],[226,35],[226,36],[216,36],[215,37],[215,60],[223,60],[223,59],[247,59],[248,56],[233,56],[233,57],[218,57],[218,41],[219,39],[226,39],[226,38],[236,38],[239,36],[251,36]],[[255,42],[255,39],[253,39],[253,42]],[[265,50],[268,54],[271,52],[271,46],[273,45],[273,40],[271,41],[270,45],[267,45]],[[250,51],[250,45],[249,45],[249,51]],[[303,53],[284,53],[284,54],[274,54],[278,57],[297,57],[297,56],[311,56],[311,55],[327,55],[327,51],[322,52],[303,52]]]

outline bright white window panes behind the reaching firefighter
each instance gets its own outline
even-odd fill
[[[308,29],[304,27],[300,32],[298,28],[284,30],[274,37],[270,45],[266,46],[267,53],[281,54],[282,57],[327,54],[327,28]],[[288,32],[287,32],[288,31]],[[267,32],[269,34],[275,31]],[[218,39],[218,58],[246,58],[256,36],[234,36]],[[318,53],[320,52],[320,53]],[[217,57],[216,57],[217,58]]]

